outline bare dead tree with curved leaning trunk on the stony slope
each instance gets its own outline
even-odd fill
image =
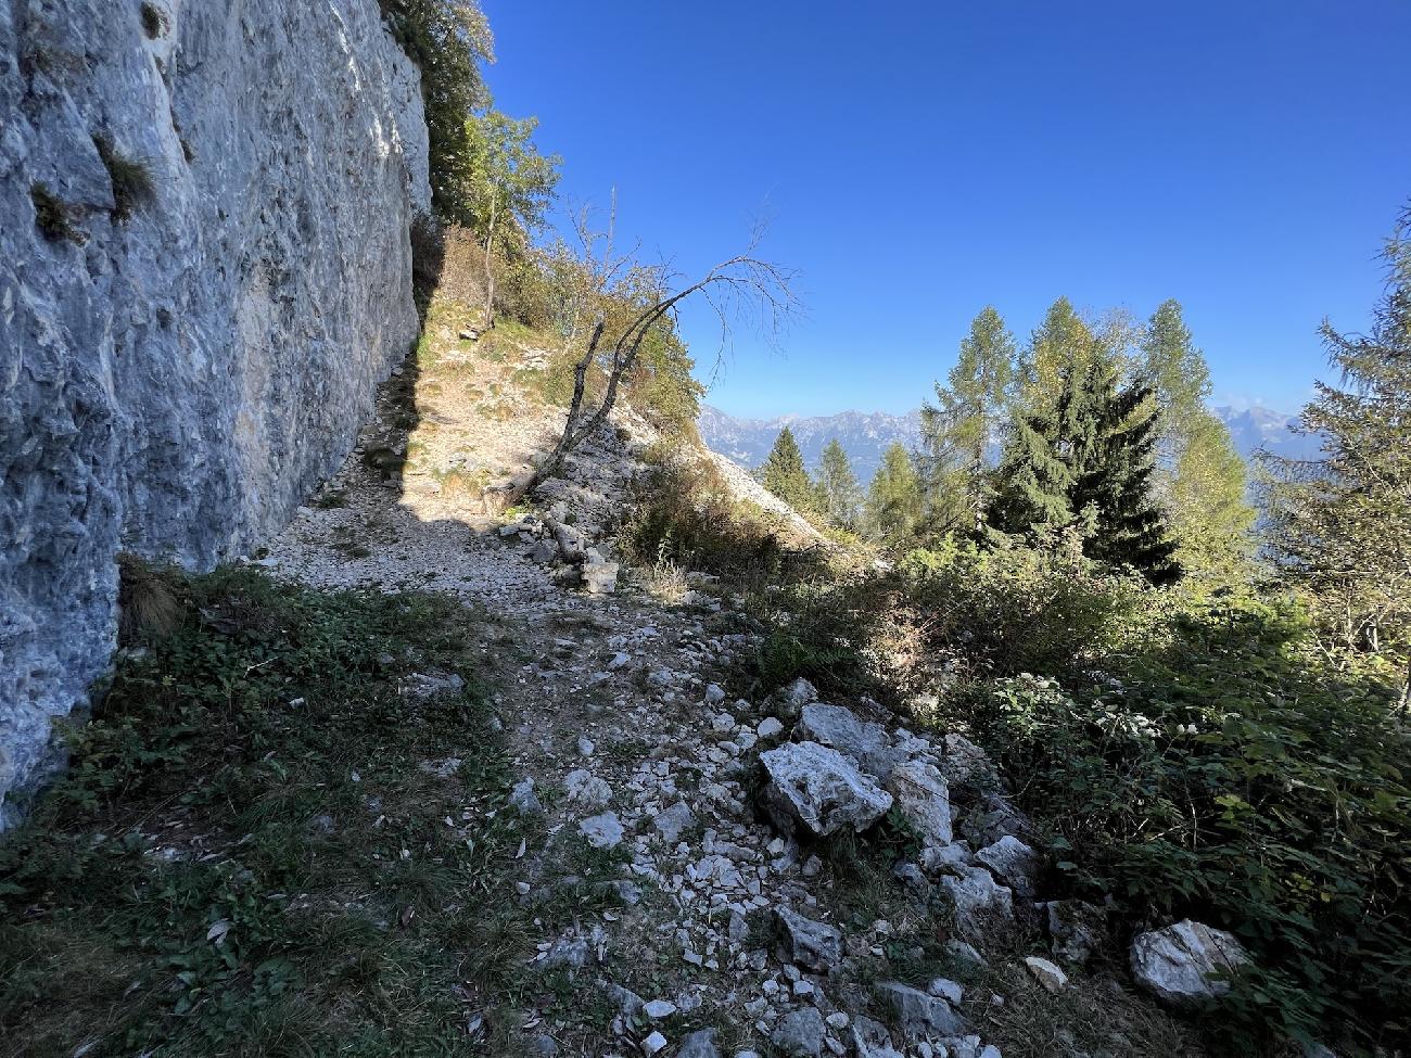
[[[755,255],[762,229],[756,229],[744,253],[737,254],[710,268],[694,282],[679,285],[665,267],[641,265],[636,255],[614,257],[611,234],[607,250],[595,253],[601,237],[587,233],[580,226],[580,241],[587,262],[591,286],[597,292],[594,310],[597,320],[588,336],[588,344],[574,364],[573,399],[569,402],[569,419],[563,436],[543,460],[539,461],[523,491],[532,492],[539,484],[555,477],[564,460],[584,440],[593,436],[612,413],[618,391],[624,379],[631,378],[638,364],[642,343],[652,330],[665,320],[674,322],[680,306],[691,298],[700,298],[720,320],[721,353],[728,346],[732,322],[745,309],[759,313],[761,323],[770,336],[777,336],[783,326],[797,313],[799,302],[792,288],[794,272]],[[628,315],[625,324],[610,324],[604,302],[612,298],[612,289],[632,288],[631,303],[635,312]],[[588,374],[594,364],[601,364],[605,374],[602,396],[587,401]]]

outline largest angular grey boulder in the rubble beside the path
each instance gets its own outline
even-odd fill
[[[842,828],[862,831],[892,807],[892,794],[862,774],[835,749],[797,742],[759,755],[769,782],[762,803],[782,831],[796,824],[827,837]]]

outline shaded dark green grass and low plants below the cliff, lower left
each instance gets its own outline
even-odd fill
[[[7,1050],[463,1045],[457,952],[502,921],[521,835],[511,813],[443,821],[508,793],[478,693],[402,683],[466,671],[450,631],[466,615],[250,570],[151,576],[179,616],[133,629],[72,767],[0,841]],[[450,756],[454,773],[422,767]],[[507,941],[483,982],[518,973]]]

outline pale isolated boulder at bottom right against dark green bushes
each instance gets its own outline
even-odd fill
[[[1249,962],[1233,934],[1185,918],[1132,941],[1132,976],[1167,1006],[1209,1007],[1230,990],[1215,973],[1233,973]]]

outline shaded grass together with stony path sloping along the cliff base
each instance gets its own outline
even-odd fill
[[[992,818],[981,756],[775,686],[751,597],[830,553],[786,540],[728,580],[667,557],[588,594],[542,521],[484,512],[481,482],[557,422],[553,358],[515,329],[463,340],[459,312],[433,308],[255,568],[166,580],[174,612],[130,632],[75,770],[0,846],[8,1051],[1197,1052],[1105,971],[1050,993],[1017,958],[1048,941],[1029,869],[974,859],[1026,827]],[[540,513],[610,552],[649,530],[636,478],[680,467],[624,446],[586,450]],[[825,839],[762,813],[762,755],[782,790],[820,741],[844,787],[816,808],[885,786],[897,811]],[[930,786],[886,777],[903,763]],[[943,842],[944,776],[969,844]]]

